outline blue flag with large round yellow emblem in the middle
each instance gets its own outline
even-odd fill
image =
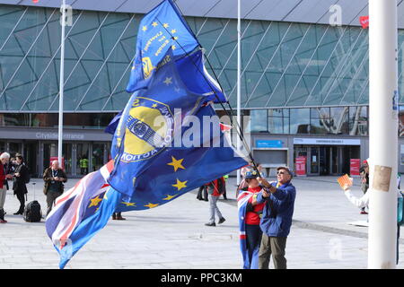
[[[175,121],[195,115],[209,100],[182,82],[171,49],[144,83],[127,102],[111,145],[114,170],[109,183],[127,199],[140,175],[180,134],[181,126]]]

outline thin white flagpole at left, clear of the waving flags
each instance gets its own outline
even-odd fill
[[[57,161],[60,166],[62,162],[62,149],[63,149],[63,91],[65,89],[65,27],[66,27],[66,0],[62,0],[62,39],[60,44],[60,79],[59,79],[59,129],[58,129],[58,143],[57,143]]]

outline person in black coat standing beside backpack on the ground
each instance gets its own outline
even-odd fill
[[[13,173],[13,191],[14,196],[17,196],[20,201],[20,209],[14,213],[14,215],[22,214],[25,208],[25,195],[28,193],[27,187],[25,185],[26,178],[29,178],[28,168],[24,164],[24,159],[22,155],[17,155],[15,157],[17,165]]]

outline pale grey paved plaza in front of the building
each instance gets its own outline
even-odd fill
[[[37,182],[36,198],[45,212],[42,182],[32,181]],[[76,181],[69,180],[67,187]],[[218,203],[224,224],[204,226],[208,203],[198,201],[195,190],[155,209],[124,213],[127,221],[110,221],[66,268],[241,268],[234,183],[230,178],[229,200]],[[294,186],[298,194],[286,247],[288,268],[366,268],[367,228],[347,224],[366,220],[366,215],[349,204],[336,178],[295,178]],[[359,187],[354,193],[360,195]],[[21,215],[12,215],[18,205],[9,192],[4,206],[8,223],[0,225],[0,268],[57,268],[58,255],[45,223],[28,223]]]

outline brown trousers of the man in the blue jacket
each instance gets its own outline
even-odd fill
[[[262,234],[261,246],[259,247],[259,269],[268,269],[272,255],[275,269],[286,269],[286,237],[268,237]]]

